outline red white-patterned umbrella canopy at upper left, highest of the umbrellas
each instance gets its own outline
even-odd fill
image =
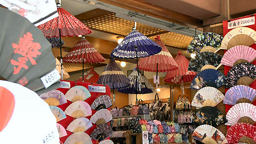
[[[45,37],[59,37],[59,29],[61,36],[78,36],[92,33],[92,30],[87,28],[83,22],[62,9],[59,3],[57,4],[57,10],[59,17],[38,26]]]

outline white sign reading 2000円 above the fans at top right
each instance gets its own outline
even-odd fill
[[[255,17],[243,18],[228,22],[228,29],[254,25]]]

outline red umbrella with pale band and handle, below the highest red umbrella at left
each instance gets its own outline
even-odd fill
[[[83,36],[73,49],[63,58],[65,62],[80,62],[83,63],[84,75],[84,62],[85,63],[98,63],[103,62],[105,59],[102,55],[94,49],[94,47]],[[83,82],[84,82],[84,77]]]

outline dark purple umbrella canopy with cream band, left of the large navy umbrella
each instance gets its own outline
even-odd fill
[[[110,89],[120,89],[130,85],[129,79],[112,58],[97,83],[108,85]]]

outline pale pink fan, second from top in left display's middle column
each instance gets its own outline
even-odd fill
[[[87,102],[76,101],[66,108],[65,114],[75,118],[86,117],[92,115],[92,109]]]

